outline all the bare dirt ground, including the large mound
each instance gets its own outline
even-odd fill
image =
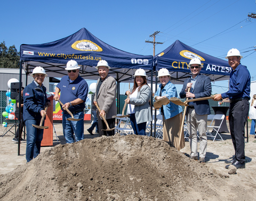
[[[234,155],[229,133],[224,141],[208,140],[206,164],[148,136],[90,135],[64,144],[55,125],[54,147],[26,163],[26,143],[13,135],[0,139],[0,200],[255,200],[254,136],[245,145],[246,168],[229,175],[225,160]],[[250,126],[249,126],[250,128]],[[2,129],[3,131],[3,129]],[[55,134],[54,134],[55,135]],[[199,143],[198,143],[199,147]],[[14,169],[14,170],[13,170]]]

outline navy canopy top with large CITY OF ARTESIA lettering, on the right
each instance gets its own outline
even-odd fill
[[[183,84],[185,79],[191,77],[188,64],[193,58],[201,60],[203,64],[201,74],[209,76],[211,81],[229,79],[231,67],[228,65],[228,61],[200,52],[178,40],[157,54],[154,57],[154,62],[156,70],[166,68],[170,71],[173,84]]]

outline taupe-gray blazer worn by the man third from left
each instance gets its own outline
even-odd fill
[[[99,82],[100,78],[98,79],[96,89]],[[99,94],[97,94],[97,91],[95,92],[93,101],[97,101],[99,108],[106,112],[106,119],[116,116],[116,81],[113,77],[107,75],[100,86]]]

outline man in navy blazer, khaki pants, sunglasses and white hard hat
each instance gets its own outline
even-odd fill
[[[197,58],[191,59],[189,68],[192,76],[185,80],[180,98],[203,98],[210,97],[212,93],[212,85],[210,77],[200,74],[202,69],[201,61]],[[190,92],[188,89],[190,88]],[[198,160],[197,156],[197,129],[200,138],[199,162],[205,164],[205,155],[207,148],[207,115],[211,114],[209,101],[195,101],[189,102],[187,110],[187,124],[189,131],[189,144],[190,144],[190,158]]]

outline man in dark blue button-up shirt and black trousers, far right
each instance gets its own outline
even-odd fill
[[[243,57],[237,49],[228,51],[226,59],[232,68],[229,79],[229,91],[215,95],[214,101],[229,98],[229,126],[235,148],[235,157],[225,163],[231,163],[237,169],[245,168],[244,126],[249,112],[251,76],[246,66],[241,65]],[[228,168],[229,165],[226,165]]]

